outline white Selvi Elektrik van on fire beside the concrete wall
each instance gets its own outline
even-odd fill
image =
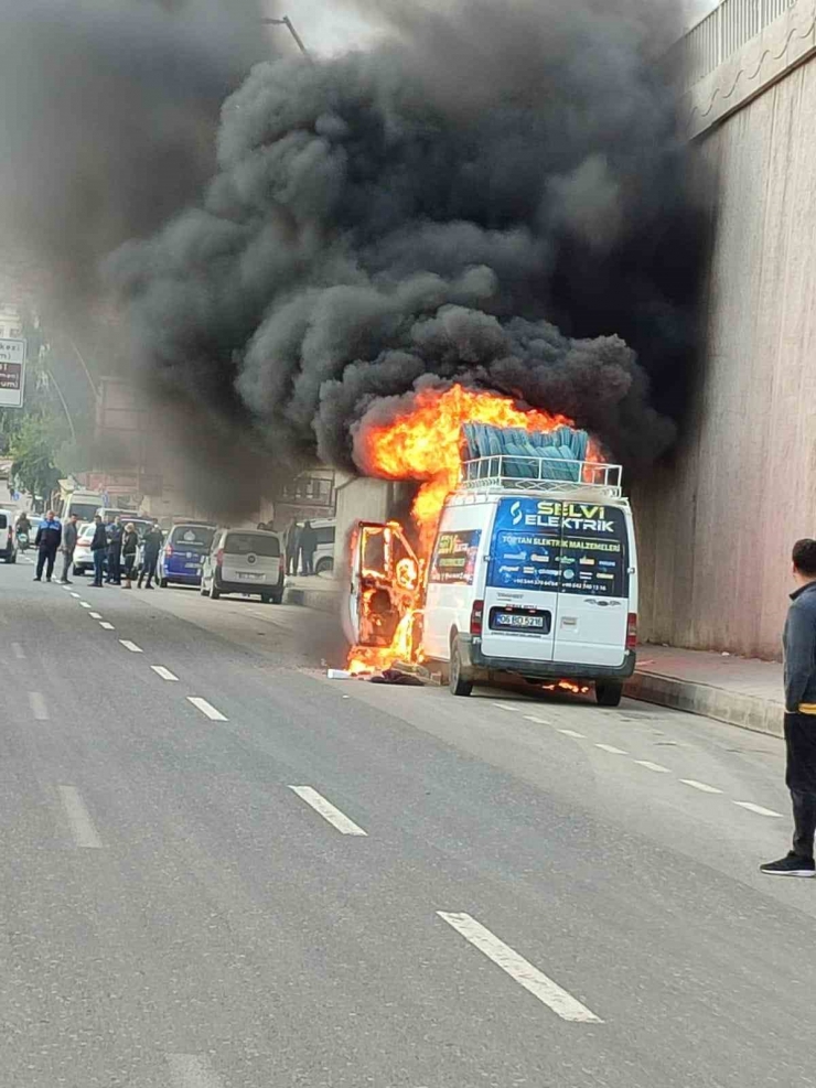
[[[463,466],[442,510],[425,572],[425,657],[441,663],[457,696],[514,675],[593,681],[598,702],[618,705],[635,666],[637,623],[635,536],[620,466],[581,463],[568,481],[540,470],[529,478],[530,459],[526,475],[507,464],[512,457],[488,460]],[[391,557],[395,547],[386,549]],[[407,547],[402,539],[399,549]],[[371,580],[371,563],[356,548],[353,591],[355,579]],[[352,593],[354,634],[361,599]]]

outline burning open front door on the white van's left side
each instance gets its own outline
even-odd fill
[[[355,646],[388,647],[419,601],[420,565],[396,521],[358,521],[352,536],[346,636]]]

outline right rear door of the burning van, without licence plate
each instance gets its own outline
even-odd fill
[[[629,618],[626,511],[615,506],[562,504],[560,593],[554,661],[623,665]]]

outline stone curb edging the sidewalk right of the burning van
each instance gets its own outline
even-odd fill
[[[691,714],[713,718],[729,725],[750,729],[771,736],[784,735],[784,707],[759,696],[743,696],[709,683],[695,683],[659,672],[640,672],[624,685],[630,699],[685,710]]]

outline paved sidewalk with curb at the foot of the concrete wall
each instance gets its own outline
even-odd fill
[[[625,693],[782,736],[782,666],[775,661],[670,646],[638,646],[637,667],[626,682]]]

